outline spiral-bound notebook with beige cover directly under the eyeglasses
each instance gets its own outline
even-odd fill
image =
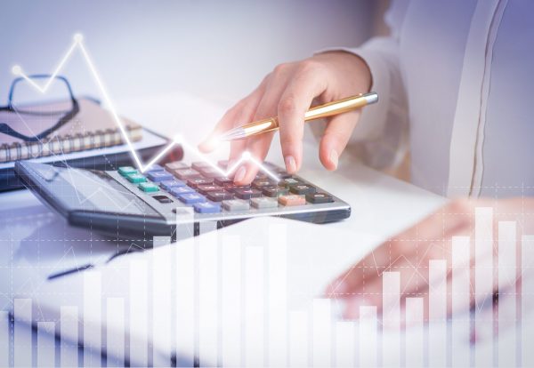
[[[27,142],[0,134],[0,163],[62,155],[124,143],[122,132],[108,110],[90,99],[80,99],[78,103],[77,115],[44,140]],[[61,108],[61,104],[62,102],[51,103],[45,108],[55,111]],[[54,119],[57,120],[57,116],[0,111],[0,122],[9,124],[15,131],[28,136],[36,135],[53,126],[56,123]],[[131,141],[142,140],[141,125],[125,118],[121,118],[121,122]]]

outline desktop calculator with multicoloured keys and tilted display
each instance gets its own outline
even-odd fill
[[[206,221],[221,228],[258,216],[314,223],[350,216],[350,205],[325,189],[275,164],[263,165],[271,175],[258,172],[248,186],[222,176],[227,161],[175,161],[144,172],[132,166],[97,171],[20,161],[15,172],[69,224],[120,238],[175,239],[177,218],[188,219],[198,234],[199,224]]]

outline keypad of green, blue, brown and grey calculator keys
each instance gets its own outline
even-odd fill
[[[165,168],[155,164],[146,171],[146,176],[132,166],[119,167],[117,172],[160,204],[175,206],[174,201],[178,200],[177,203],[190,206],[197,213],[246,213],[334,202],[328,193],[273,164],[264,164],[279,176],[278,182],[258,172],[251,185],[236,186],[231,178],[223,177],[205,162],[189,165],[178,161],[166,164]],[[226,170],[228,161],[220,161],[218,166]]]

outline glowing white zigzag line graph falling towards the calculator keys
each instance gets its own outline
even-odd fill
[[[180,135],[174,136],[174,139],[171,140],[165,148],[159,151],[156,156],[152,157],[148,164],[143,164],[141,157],[137,154],[137,151],[134,148],[132,140],[130,140],[127,132],[125,131],[125,125],[122,123],[120,117],[118,116],[117,109],[115,108],[115,105],[113,104],[111,98],[109,97],[108,90],[104,86],[101,76],[98,73],[93,63],[93,59],[89,55],[89,52],[87,52],[87,49],[85,48],[83,41],[84,41],[83,35],[76,34],[73,36],[73,43],[69,47],[69,50],[61,58],[59,64],[53,70],[53,73],[51,74],[50,78],[46,82],[44,82],[44,84],[42,85],[37,84],[36,81],[34,81],[30,76],[28,76],[28,74],[24,72],[24,70],[20,67],[20,65],[15,65],[12,67],[12,74],[14,74],[15,76],[20,76],[24,78],[28,82],[28,84],[30,84],[32,87],[36,89],[37,92],[45,93],[50,87],[50,85],[52,84],[53,79],[59,75],[59,73],[61,72],[61,69],[65,66],[65,64],[67,64],[67,61],[70,59],[70,56],[78,49],[82,53],[85,63],[87,64],[87,67],[89,68],[89,71],[91,75],[93,76],[94,81],[97,84],[101,92],[103,100],[108,106],[109,112],[113,120],[117,124],[119,131],[121,132],[123,140],[125,141],[125,144],[128,146],[130,150],[130,153],[134,159],[136,168],[140,172],[146,172],[150,168],[150,166],[158,163],[158,161],[163,156],[165,156],[167,152],[169,152],[172,148],[174,148],[174,146],[178,144],[182,144],[184,148],[187,148],[192,153],[194,153],[195,156],[198,156],[201,160],[205,161],[207,164],[210,164],[210,166],[212,166],[215,170],[217,170],[218,172],[221,172],[223,176],[231,175],[231,173],[234,172],[239,167],[240,164],[243,164],[245,162],[250,162],[252,164],[255,164],[258,167],[259,171],[264,172],[265,174],[270,176],[273,180],[279,181],[279,177],[274,172],[271,172],[267,167],[265,167],[262,163],[260,163],[253,156],[251,156],[249,152],[244,152],[243,155],[239,158],[239,160],[235,164],[231,165],[231,167],[229,167],[226,171],[223,171],[217,164],[214,164],[212,160],[210,160],[208,157],[206,157],[201,152],[199,152],[197,148],[195,148],[193,145],[188,144],[186,141],[182,140],[182,137]]]

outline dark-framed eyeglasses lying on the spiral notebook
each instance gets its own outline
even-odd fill
[[[16,97],[20,96],[20,92],[17,93],[22,88],[22,84],[25,82],[28,83],[28,80],[24,77],[18,77],[15,78],[12,82],[11,89],[9,91],[9,97],[8,97],[8,103],[7,106],[0,107],[0,111],[7,111],[12,112],[14,114],[18,114],[20,116],[50,116],[51,118],[53,116],[59,116],[58,120],[56,121],[53,119],[53,121],[56,121],[53,126],[46,128],[44,131],[36,134],[36,135],[25,135],[21,132],[17,132],[10,126],[9,124],[0,122],[0,133],[18,138],[20,140],[24,140],[27,142],[35,142],[38,140],[42,140],[46,138],[51,133],[57,131],[61,128],[64,124],[67,124],[70,119],[72,119],[74,116],[77,115],[80,108],[78,105],[78,101],[74,97],[74,94],[72,93],[72,89],[70,88],[69,81],[64,76],[51,76],[46,74],[38,74],[33,76],[28,76],[28,79],[30,81],[35,80],[50,80],[51,78],[54,78],[52,82],[58,82],[62,85],[63,88],[66,88],[66,92],[64,94],[69,94],[69,98],[62,100],[60,103],[40,103],[40,104],[28,104],[21,102],[20,104],[17,103],[18,100],[22,101],[22,99],[16,99]],[[47,82],[49,83],[49,82]],[[67,96],[65,96],[67,97]]]

